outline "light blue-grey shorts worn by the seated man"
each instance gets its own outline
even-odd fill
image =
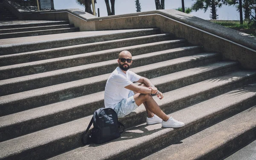
[[[131,93],[132,92],[132,93]],[[123,118],[124,116],[128,115],[132,111],[134,111],[136,108],[138,108],[138,105],[134,101],[134,92],[131,91],[129,93],[129,98],[122,99],[121,102],[117,103],[114,111],[117,113],[118,118]]]

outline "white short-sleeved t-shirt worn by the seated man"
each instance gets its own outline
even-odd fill
[[[105,87],[104,104],[105,108],[114,109],[115,105],[122,101],[122,99],[129,98],[130,90],[125,87],[138,81],[140,76],[130,70],[126,74],[117,67],[109,76]]]

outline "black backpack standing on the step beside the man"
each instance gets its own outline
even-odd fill
[[[91,134],[87,136],[90,126],[93,124]],[[119,132],[119,129],[122,131]],[[121,136],[120,133],[124,131],[125,126],[118,122],[116,111],[112,108],[99,108],[93,113],[93,117],[84,132],[82,142],[84,145],[90,142],[100,144]]]

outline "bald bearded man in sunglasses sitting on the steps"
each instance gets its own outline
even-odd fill
[[[163,99],[163,93],[157,90],[149,79],[129,70],[132,64],[130,52],[126,50],[120,52],[117,62],[119,67],[111,73],[106,83],[105,108],[112,108],[116,111],[118,118],[122,118],[143,103],[148,116],[146,119],[148,125],[162,123],[163,127],[184,126],[183,122],[167,116],[151,96],[156,94],[159,99]],[[140,84],[136,85],[133,82]]]

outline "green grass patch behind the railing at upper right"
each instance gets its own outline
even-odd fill
[[[240,24],[238,20],[213,20],[211,22],[256,36],[256,26],[253,26],[252,23],[248,23],[248,21],[244,21],[243,24]]]

